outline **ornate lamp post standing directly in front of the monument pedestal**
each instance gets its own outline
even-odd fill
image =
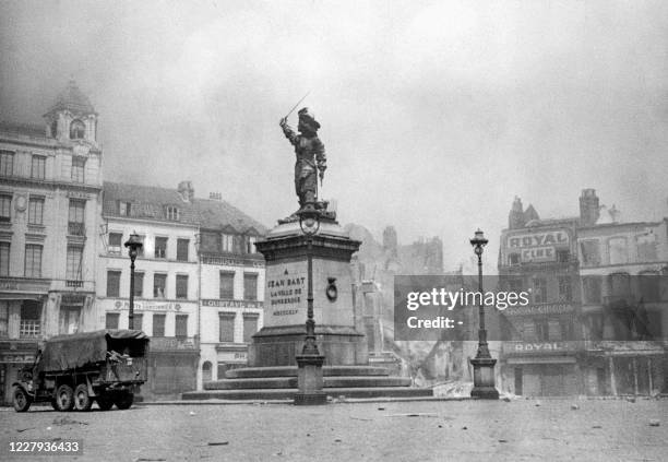
[[[327,396],[322,391],[322,365],[324,356],[315,344],[315,321],[313,320],[313,236],[320,229],[320,212],[313,202],[307,203],[299,212],[299,227],[307,241],[307,321],[306,341],[301,355],[297,355],[299,392],[295,395],[296,405],[326,404]]]

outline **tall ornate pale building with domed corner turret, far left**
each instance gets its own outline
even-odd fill
[[[38,342],[95,327],[102,150],[71,81],[40,126],[0,123],[0,402]]]

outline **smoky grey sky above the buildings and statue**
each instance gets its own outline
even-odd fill
[[[439,236],[445,269],[478,227],[496,265],[515,196],[668,215],[665,1],[5,0],[0,49],[0,119],[40,122],[74,78],[105,179],[190,179],[269,226],[297,209],[278,120],[307,92],[339,221]]]

